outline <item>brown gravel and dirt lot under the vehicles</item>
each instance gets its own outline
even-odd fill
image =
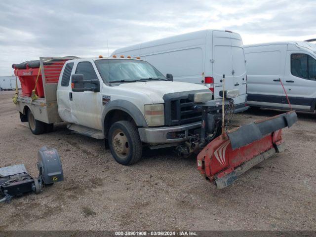
[[[0,93],[0,167],[24,163],[36,176],[37,151],[46,145],[58,150],[65,181],[0,203],[0,230],[316,230],[315,115],[299,114],[284,130],[282,154],[216,190],[195,158],[178,158],[172,149],[122,166],[103,140],[73,134],[64,123],[33,135],[12,95]],[[248,111],[236,122],[278,113]]]

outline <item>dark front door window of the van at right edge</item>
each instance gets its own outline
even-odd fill
[[[291,74],[299,78],[316,80],[316,60],[304,53],[291,54]]]

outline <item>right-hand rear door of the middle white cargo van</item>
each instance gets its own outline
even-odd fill
[[[246,62],[240,35],[230,33],[230,36],[232,40],[234,89],[239,90],[239,96],[234,98],[237,105],[246,101]]]

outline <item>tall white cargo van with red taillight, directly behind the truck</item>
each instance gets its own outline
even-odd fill
[[[162,74],[170,73],[175,81],[206,85],[213,99],[220,100],[225,75],[225,90],[237,90],[236,110],[248,107],[246,101],[246,68],[243,43],[237,33],[203,30],[135,44],[115,50],[112,56],[141,57]]]

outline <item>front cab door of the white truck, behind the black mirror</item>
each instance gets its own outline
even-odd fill
[[[98,79],[100,85],[103,84],[102,79],[97,76],[97,69],[94,62],[81,61],[75,65],[75,74],[83,74],[84,80]],[[91,83],[85,83],[84,87],[89,88],[94,86]],[[94,91],[72,91],[70,88],[69,96],[70,106],[73,116],[77,119],[77,124],[86,127],[102,130],[101,124],[101,107],[102,107],[102,86],[100,92]]]

